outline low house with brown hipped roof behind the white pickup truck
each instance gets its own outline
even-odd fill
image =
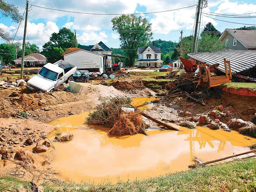
[[[31,53],[24,57],[25,67],[42,67],[46,64],[46,57],[40,53]],[[14,65],[21,65],[21,57],[14,60]]]

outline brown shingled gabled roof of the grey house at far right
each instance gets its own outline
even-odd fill
[[[234,36],[246,48],[256,48],[256,30],[225,29],[220,36],[222,40],[227,34]]]

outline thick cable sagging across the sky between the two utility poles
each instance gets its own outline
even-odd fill
[[[147,12],[147,13],[129,13],[129,14],[116,14],[116,13],[86,13],[86,12],[75,12],[75,11],[66,11],[66,10],[60,10],[60,9],[52,9],[52,8],[41,7],[41,6],[33,5],[33,4],[31,4],[31,6],[39,7],[39,8],[43,8],[43,9],[50,9],[50,10],[54,10],[54,11],[69,12],[69,13],[80,13],[80,14],[88,14],[88,15],[132,15],[132,14],[133,14],[133,15],[145,15],[145,14],[162,13],[162,12],[170,12],[170,11],[176,11],[176,10],[180,10],[180,9],[186,9],[186,8],[189,8],[189,7],[196,6],[196,4],[195,4],[195,5],[188,6],[188,7],[181,7],[181,8],[178,8],[178,9],[172,9],[172,10],[166,10],[166,11]]]

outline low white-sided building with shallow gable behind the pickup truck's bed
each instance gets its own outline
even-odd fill
[[[64,55],[64,60],[75,65],[78,70],[88,70],[102,74],[104,71],[104,55],[79,49]]]

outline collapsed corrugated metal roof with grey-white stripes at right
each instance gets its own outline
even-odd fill
[[[227,50],[217,52],[188,53],[188,56],[208,65],[218,63],[220,64],[218,69],[224,73],[224,59],[230,61],[230,67],[233,74],[256,66],[256,50]]]

